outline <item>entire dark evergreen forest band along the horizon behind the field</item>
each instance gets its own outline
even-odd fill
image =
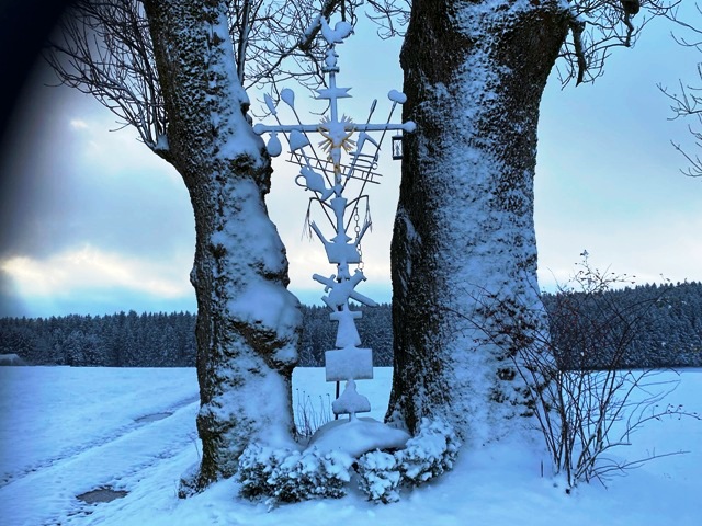
[[[579,319],[615,320],[600,323],[616,334],[623,355],[621,367],[702,367],[702,284],[643,285],[610,290],[597,297],[577,294],[544,294],[544,306],[552,320],[552,336],[562,352],[562,363],[580,363],[598,368],[611,358],[589,356],[574,336],[570,321]],[[564,301],[567,300],[567,301]],[[558,315],[564,305],[576,305],[567,318]],[[559,307],[561,306],[561,307]],[[390,306],[362,307],[358,329],[364,347],[373,350],[376,366],[392,366],[393,328]],[[299,365],[324,366],[324,353],[333,348],[336,322],[329,320],[327,307],[303,307],[303,338]],[[623,321],[622,321],[623,320]],[[590,325],[587,325],[590,327]],[[16,354],[27,365],[70,365],[106,367],[193,367],[195,365],[195,315],[120,312],[112,316],[0,319],[0,354]],[[580,329],[582,330],[582,329]],[[589,330],[588,339],[600,338]],[[604,338],[604,336],[602,336]],[[580,346],[579,346],[580,345]],[[582,344],[584,345],[584,344]]]

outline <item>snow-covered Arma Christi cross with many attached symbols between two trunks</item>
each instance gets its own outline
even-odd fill
[[[371,226],[369,217],[369,199],[363,194],[366,183],[377,183],[380,176],[374,170],[377,167],[381,144],[388,130],[401,130],[411,133],[415,123],[406,122],[392,124],[390,119],[397,104],[403,104],[405,95],[392,90],[388,99],[393,102],[388,118],[383,124],[372,124],[371,118],[375,111],[377,101],[373,101],[371,111],[365,124],[354,123],[350,117],[343,115],[339,118],[339,99],[350,98],[350,88],[339,88],[337,85],[338,54],[335,49],[337,44],[341,44],[352,33],[351,24],[338,22],[333,28],[324,19],[319,19],[321,35],[327,42],[327,52],[322,71],[328,76],[327,87],[317,90],[317,99],[327,100],[328,108],[321,122],[315,124],[304,124],[295,111],[295,95],[290,89],[281,91],[281,100],[287,104],[296,117],[295,124],[282,124],[276,106],[269,95],[264,95],[265,105],[270,114],[278,122],[276,125],[257,124],[253,130],[258,135],[270,134],[268,141],[269,153],[273,157],[282,152],[282,145],[278,134],[283,134],[290,145],[290,161],[299,164],[299,175],[296,182],[299,186],[314,193],[309,206],[318,203],[321,206],[331,228],[333,237],[327,239],[319,226],[315,221],[309,222],[312,231],[325,247],[329,263],[337,265],[336,275],[329,277],[314,274],[313,278],[325,286],[326,296],[321,299],[332,310],[330,319],[338,322],[336,350],[325,353],[325,366],[327,381],[347,381],[346,389],[341,396],[332,403],[332,411],[336,415],[349,414],[349,419],[354,419],[355,413],[371,410],[367,398],[359,395],[355,389],[358,379],[373,378],[373,356],[370,348],[361,348],[361,339],[355,327],[355,320],[362,316],[361,311],[352,311],[349,300],[353,299],[366,306],[375,306],[375,301],[363,296],[355,290],[359,283],[365,281],[363,275],[363,262],[361,256],[361,239]],[[381,133],[382,136],[375,140],[371,134]],[[319,146],[326,156],[317,155],[315,147],[309,140],[309,134],[319,134],[321,141]],[[358,135],[356,135],[358,134]],[[369,147],[370,145],[370,147]],[[371,149],[371,152],[364,149]],[[342,163],[343,153],[350,157],[348,163]],[[344,191],[350,191],[349,182],[361,183],[361,188],[355,198],[349,201],[344,196]],[[363,226],[359,221],[359,207],[365,204],[365,219]],[[309,208],[308,208],[309,216]],[[355,239],[348,236],[347,230],[351,220],[355,220]],[[349,265],[358,265],[353,274]]]

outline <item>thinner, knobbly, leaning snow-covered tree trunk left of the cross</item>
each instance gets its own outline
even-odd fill
[[[236,469],[251,441],[282,446],[293,428],[297,299],[268,217],[270,158],[246,118],[225,0],[152,0],[145,8],[168,115],[166,157],[195,215],[203,444],[196,488]]]

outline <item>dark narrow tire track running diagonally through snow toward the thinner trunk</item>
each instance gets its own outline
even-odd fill
[[[13,482],[16,482],[19,480],[22,480],[25,477],[31,476],[32,473],[36,473],[39,472],[41,470],[50,468],[53,466],[56,466],[57,464],[65,461],[65,460],[69,460],[73,457],[77,457],[79,455],[81,455],[84,451],[88,451],[90,449],[94,449],[97,447],[101,447],[104,446],[106,444],[113,443],[115,441],[118,441],[120,438],[137,432],[141,428],[144,428],[145,426],[148,425],[152,425],[154,423],[160,421],[160,420],[165,420],[165,419],[169,419],[172,418],[173,414],[182,409],[185,408],[192,403],[195,403],[200,401],[200,397],[199,396],[193,396],[193,397],[188,397],[186,399],[183,399],[172,405],[169,405],[167,408],[160,409],[157,413],[158,414],[166,414],[169,413],[167,416],[165,418],[159,418],[156,420],[151,420],[149,419],[149,416],[151,414],[145,414],[140,418],[134,419],[134,421],[129,424],[123,425],[121,427],[116,427],[114,430],[112,430],[111,432],[109,432],[109,434],[101,436],[97,439],[93,441],[89,441],[86,442],[83,444],[79,444],[76,445],[73,447],[69,447],[66,448],[65,450],[60,451],[58,455],[43,459],[41,462],[36,462],[33,464],[31,466],[26,466],[21,470],[16,470],[13,472],[8,472],[8,473],[3,473],[2,476],[2,480],[0,480],[0,489],[4,488],[8,484],[11,484]]]

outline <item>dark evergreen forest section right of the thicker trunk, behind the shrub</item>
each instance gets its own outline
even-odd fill
[[[542,299],[564,368],[702,366],[702,283]]]

